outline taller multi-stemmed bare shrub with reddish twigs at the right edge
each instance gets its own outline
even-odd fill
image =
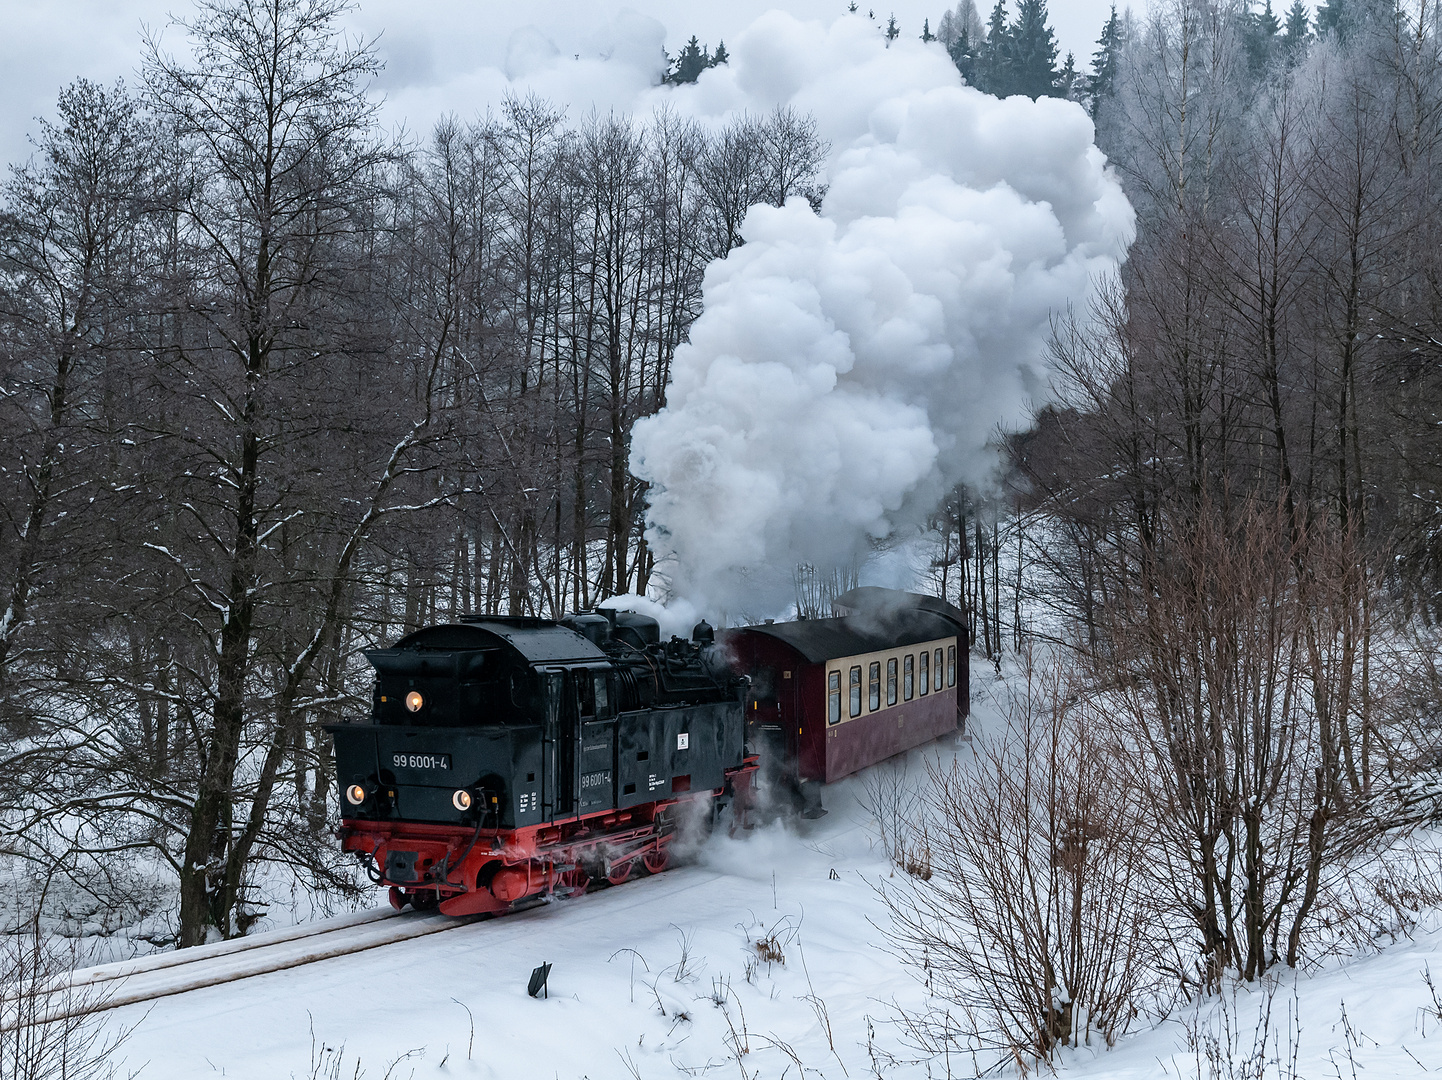
[[[1216,989],[1425,891],[1397,845],[1432,812],[1413,774],[1436,694],[1351,532],[1260,497],[1203,499],[1169,528],[1115,593],[1099,675],[1156,823],[1155,887],[1200,942],[1180,975]]]

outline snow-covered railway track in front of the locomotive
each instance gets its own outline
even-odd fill
[[[456,919],[399,914],[385,907],[254,937],[82,968],[42,991],[49,998],[46,1018],[105,1012],[255,975],[301,968],[336,956],[459,930],[479,919],[482,916]]]

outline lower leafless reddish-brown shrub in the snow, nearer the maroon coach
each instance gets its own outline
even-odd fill
[[[1025,1066],[1138,1015],[1145,829],[1097,727],[1066,668],[1028,662],[975,758],[929,767],[930,877],[883,890],[891,944],[945,1002],[903,1021],[923,1050]]]

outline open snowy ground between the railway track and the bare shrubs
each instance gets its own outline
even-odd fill
[[[747,1076],[800,1076],[796,1058],[864,1076],[872,1051],[883,1067],[911,1057],[887,1018],[893,998],[917,1005],[923,992],[877,947],[871,882],[890,865],[857,790],[831,789],[818,822],[712,838],[695,865],[653,878],[120,1009],[114,1022],[137,1025],[127,1067],[146,1064],[149,1080],[309,1077],[323,1045],[322,1076],[342,1050],[345,1077],[358,1061],[385,1076],[407,1053],[394,1077],[735,1076],[740,1047]],[[771,934],[784,960],[767,963],[756,942]],[[549,998],[532,999],[542,962]]]

